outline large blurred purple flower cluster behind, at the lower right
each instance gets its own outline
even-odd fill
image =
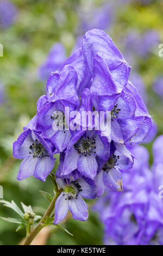
[[[163,136],[153,144],[153,165],[148,151],[137,145],[130,150],[136,159],[130,172],[123,172],[124,191],[108,192],[95,209],[105,226],[104,241],[114,245],[163,245]]]

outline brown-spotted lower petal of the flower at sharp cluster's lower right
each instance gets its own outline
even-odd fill
[[[104,172],[104,183],[110,190],[122,191],[122,175],[119,170],[112,168]]]

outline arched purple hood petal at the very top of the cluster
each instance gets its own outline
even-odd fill
[[[118,51],[114,42],[105,32],[99,29],[92,29],[83,38],[83,55],[93,74],[93,59],[101,56],[106,59],[109,70],[116,83],[120,83],[120,88],[126,86],[130,68]]]

